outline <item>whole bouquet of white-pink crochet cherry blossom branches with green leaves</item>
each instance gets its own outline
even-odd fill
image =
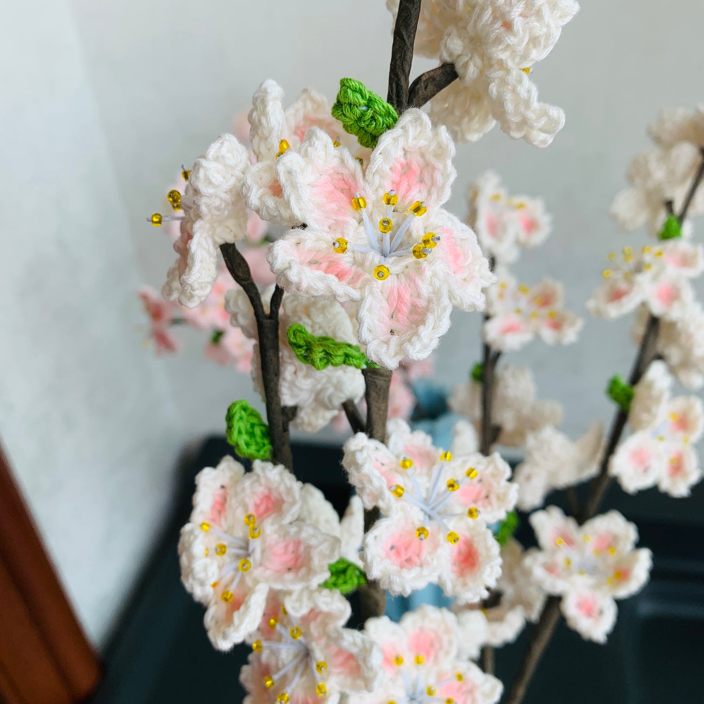
[[[597,515],[612,478],[674,497],[700,479],[702,403],[672,384],[704,384],[704,312],[691,287],[704,253],[688,220],[704,211],[704,112],[663,113],[650,127],[655,148],[634,159],[632,185],[615,199],[620,224],[647,224],[653,239],[608,255],[587,308],[635,313],[638,352],[629,377],[608,382],[608,435],[595,424],[571,439],[529,370],[498,364],[536,337],[571,344],[582,327],[559,282],[524,284],[508,269],[545,241],[550,215],[493,173],[470,187],[466,221],[446,204],[453,139],[474,141],[498,122],[547,146],[562,127],[531,73],[577,1],[387,6],[386,100],[343,79],[332,107],[311,89],[287,106],[265,81],[249,124],[184,168],[172,214],[150,218],[173,228],[178,255],[165,301],[140,292],[157,348],[175,349],[178,322],[205,329],[208,355],[251,370],[265,401],[265,420],[246,401],[227,410],[227,438],[251,469],[227,456],[200,472],[180,541],[182,580],[206,609],[213,646],[251,648],[249,704],[493,704],[504,690],[493,649],[534,622],[506,687],[517,704],[560,615],[603,643],[617,600],[648,580],[634,524]],[[414,48],[439,65],[409,86]],[[455,387],[449,404],[466,420],[439,447],[406,420],[453,308],[483,312],[483,360]],[[340,417],[353,431],[343,517],[296,479],[289,443],[289,428],[316,432]],[[498,445],[523,448],[515,471]],[[541,509],[553,491],[567,493],[572,515]],[[537,548],[513,539],[516,508],[534,511]],[[451,609],[424,605],[398,623],[383,615],[386,592],[429,584]],[[363,630],[346,627],[354,590]]]

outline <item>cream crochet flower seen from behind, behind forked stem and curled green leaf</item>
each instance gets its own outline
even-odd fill
[[[273,288],[263,294],[265,310],[268,310]],[[242,289],[227,294],[227,310],[232,313],[232,325],[258,340],[254,312]],[[335,301],[325,301],[292,293],[284,296],[279,309],[279,391],[284,406],[297,406],[298,411],[291,426],[305,432],[318,432],[338,413],[344,401],[358,401],[364,394],[362,372],[355,367],[341,365],[317,370],[296,357],[287,338],[287,329],[300,323],[310,334],[332,337],[340,342],[356,344],[353,321],[344,308]],[[254,388],[264,398],[261,375],[259,344],[255,344],[252,365]]]

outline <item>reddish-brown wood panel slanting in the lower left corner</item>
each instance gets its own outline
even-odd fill
[[[1,446],[0,563],[8,582],[4,589],[11,589],[20,598],[16,608],[23,615],[24,626],[20,628],[20,621],[15,619],[15,637],[20,641],[26,637],[27,642],[38,637],[39,644],[35,645],[42,659],[54,669],[56,678],[63,681],[67,701],[86,699],[100,681],[99,660],[68,603]],[[7,610],[5,601],[0,599],[0,637],[4,636]],[[23,673],[6,665],[5,673],[15,684],[18,678],[33,677],[31,668],[25,668]],[[63,700],[37,699],[28,700],[27,704],[60,701]]]

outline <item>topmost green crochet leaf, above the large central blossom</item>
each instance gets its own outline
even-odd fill
[[[387,103],[365,84],[353,78],[340,80],[332,116],[342,122],[345,132],[354,134],[362,146],[374,149],[379,137],[398,122],[394,106]]]

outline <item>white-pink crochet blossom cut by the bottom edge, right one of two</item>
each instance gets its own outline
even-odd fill
[[[501,681],[467,662],[457,618],[447,609],[424,604],[399,623],[372,618],[364,632],[382,650],[384,681],[373,694],[351,695],[350,704],[494,704],[501,697]]]

